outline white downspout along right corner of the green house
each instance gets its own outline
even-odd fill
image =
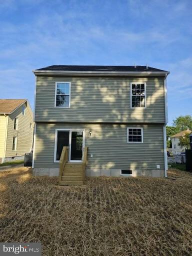
[[[166,152],[166,124],[168,122],[168,106],[167,106],[167,86],[166,86],[166,77],[167,74],[164,76],[164,114],[165,114],[165,123],[163,126],[163,144],[164,144],[164,176],[167,178],[167,152]]]

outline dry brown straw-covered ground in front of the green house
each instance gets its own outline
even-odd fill
[[[58,186],[21,167],[0,172],[0,241],[41,241],[42,255],[192,255],[192,175],[89,177]]]

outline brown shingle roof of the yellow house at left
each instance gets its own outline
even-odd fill
[[[27,99],[0,99],[0,113],[10,114]]]

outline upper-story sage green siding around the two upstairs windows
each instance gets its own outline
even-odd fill
[[[35,121],[164,123],[163,77],[36,77]],[[70,108],[54,107],[55,82],[71,82]],[[130,108],[130,83],[146,82],[146,108]]]

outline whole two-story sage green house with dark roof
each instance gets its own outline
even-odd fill
[[[52,65],[33,72],[35,175],[58,175],[63,146],[71,164],[88,146],[86,175],[166,176],[168,71]]]

